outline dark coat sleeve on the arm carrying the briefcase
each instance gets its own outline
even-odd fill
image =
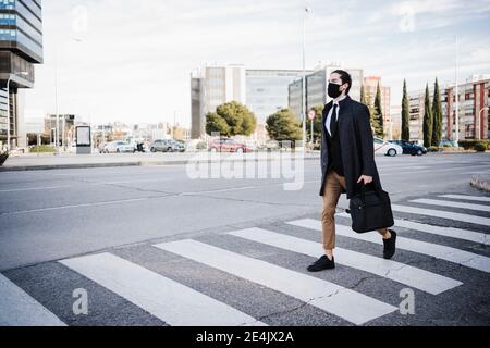
[[[370,122],[369,109],[363,105],[357,119],[358,138],[360,144],[360,152],[363,159],[363,175],[376,175],[375,162],[375,137],[372,136],[372,128]]]

